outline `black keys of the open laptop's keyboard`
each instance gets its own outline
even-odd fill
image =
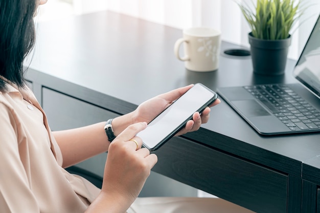
[[[320,129],[320,112],[283,84],[243,87],[292,131]]]

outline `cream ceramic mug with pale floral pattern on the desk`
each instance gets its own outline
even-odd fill
[[[219,68],[221,46],[219,30],[197,27],[183,31],[183,37],[174,45],[175,56],[185,61],[185,67],[191,71],[208,72]],[[179,49],[184,43],[185,56],[180,57]]]

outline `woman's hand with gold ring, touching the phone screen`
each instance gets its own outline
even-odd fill
[[[145,122],[129,125],[109,146],[102,193],[116,199],[115,205],[123,205],[124,211],[138,197],[157,162],[156,155],[141,148],[142,140],[135,136],[146,127]]]

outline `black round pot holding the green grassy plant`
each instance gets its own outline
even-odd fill
[[[287,63],[291,36],[280,40],[255,38],[249,33],[249,44],[254,73],[261,75],[283,75]]]

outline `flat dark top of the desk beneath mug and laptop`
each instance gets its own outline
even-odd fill
[[[173,54],[181,30],[113,12],[40,23],[37,31],[31,69],[134,105],[196,82],[214,91],[226,86],[296,82],[291,76],[293,60],[288,60],[284,76],[258,76],[253,74],[250,56],[223,53],[243,48],[226,41],[222,42],[219,70],[188,71]],[[302,163],[320,154],[319,136],[261,136],[222,100],[212,109],[207,124],[184,137],[301,178]]]

